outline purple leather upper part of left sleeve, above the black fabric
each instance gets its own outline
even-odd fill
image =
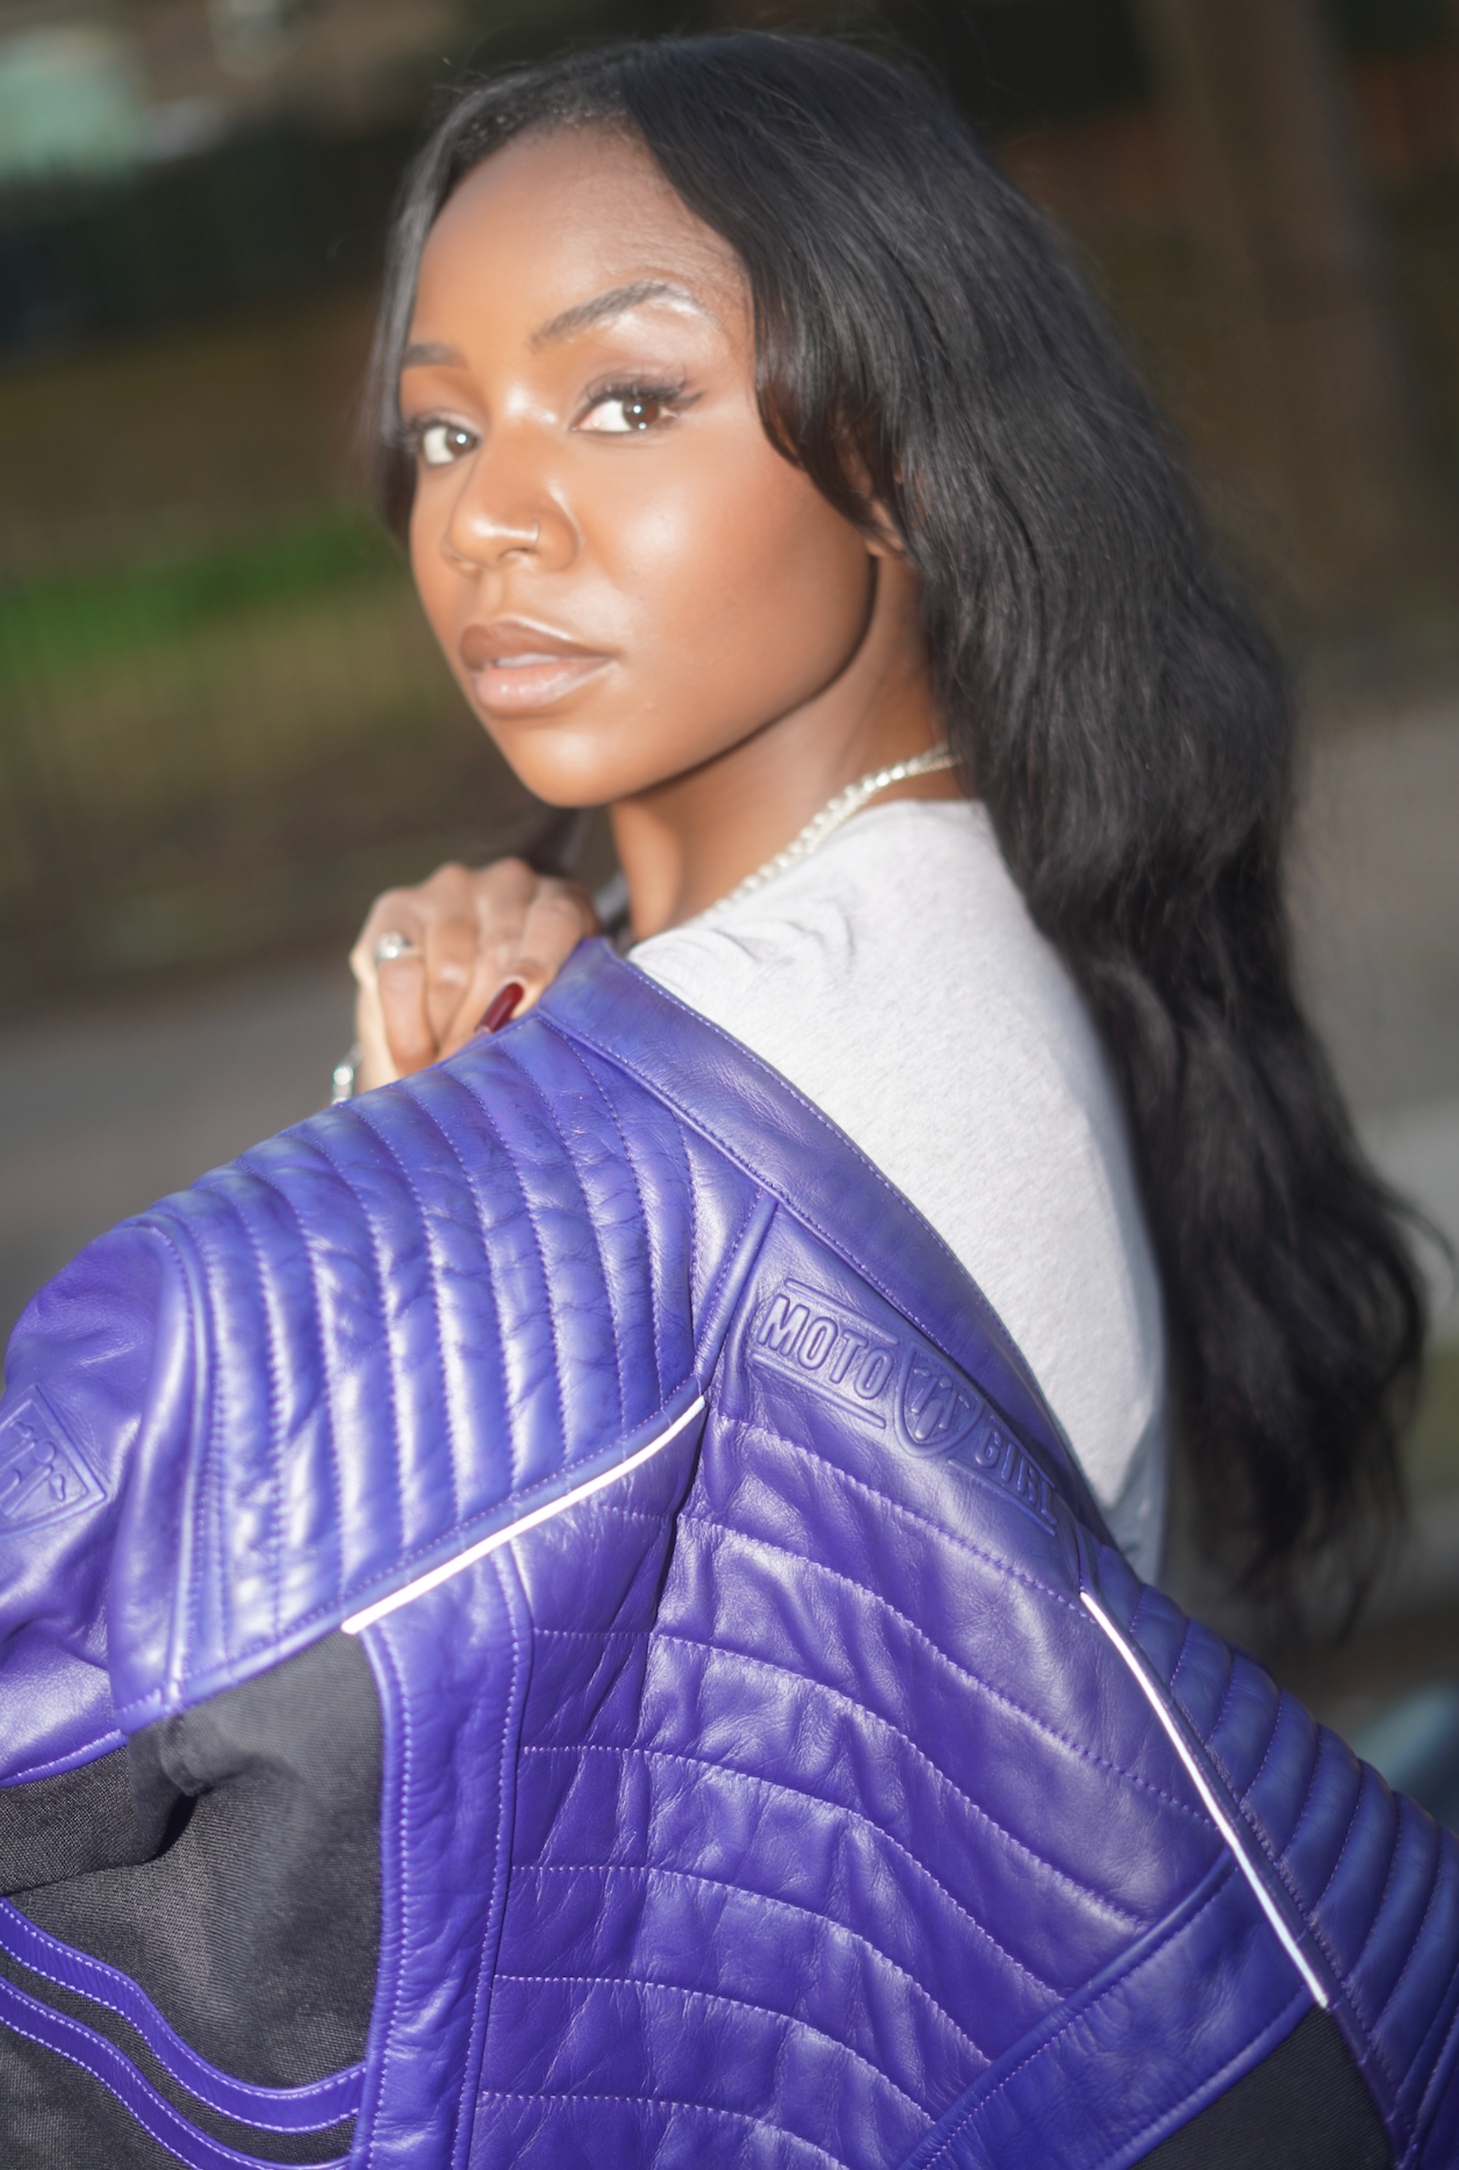
[[[0,1779],[310,1647],[695,1389],[745,1196],[547,1029],[326,1111],[89,1246],[0,1413]],[[701,1187],[699,1187],[701,1191]]]

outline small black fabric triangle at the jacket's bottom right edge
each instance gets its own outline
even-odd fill
[[[1309,2012],[1281,2048],[1144,2155],[1140,2170],[1392,2170],[1392,2161],[1337,2022]]]

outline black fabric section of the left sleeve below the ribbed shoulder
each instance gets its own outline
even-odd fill
[[[91,1786],[50,1795],[50,1838],[30,1849],[17,1838],[11,1851],[41,1877],[28,1888],[11,1884],[11,1899],[37,1927],[130,1975],[182,2040],[232,2077],[274,2088],[323,2079],[363,2059],[369,2031],[380,1951],[380,1760],[369,1660],[352,1636],[328,1636],[139,1734],[128,1753],[126,1814],[115,1758],[104,1758],[109,1771]],[[69,1836],[67,1801],[80,1825]],[[126,1858],[143,1838],[152,1840],[150,1858]],[[106,1866],[46,1875],[98,1855]],[[163,2081],[126,2022],[24,1968],[7,1973],[54,2009],[106,2031],[191,2122],[241,2153],[317,2161],[345,2150],[347,2127],[280,2140],[213,2118]],[[115,2137],[117,2120],[126,2142]],[[0,2159],[7,2170],[176,2163],[100,2081],[9,2029],[0,2029]]]

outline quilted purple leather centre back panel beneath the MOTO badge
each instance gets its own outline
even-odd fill
[[[756,1341],[786,1285],[912,1356],[782,1215],[654,1604],[604,1636],[567,1521],[512,1547],[536,1654],[478,2166],[897,2163],[1225,1858],[1101,1695],[1062,1510],[797,1393]]]

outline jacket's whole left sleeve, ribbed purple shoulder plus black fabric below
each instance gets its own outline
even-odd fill
[[[341,1630],[693,1413],[695,1315],[751,1189],[695,1207],[675,1122],[645,1105],[627,1135],[528,1024],[163,1200],[22,1319],[0,1410],[7,2163],[267,2159],[261,2118],[306,2114],[308,2159],[347,2146],[408,1756],[371,1636]],[[495,1662],[471,1660],[471,1708]]]

